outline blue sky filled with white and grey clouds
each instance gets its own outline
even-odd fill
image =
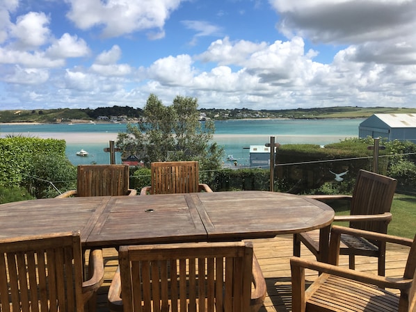
[[[0,0],[0,109],[416,107],[416,0]]]

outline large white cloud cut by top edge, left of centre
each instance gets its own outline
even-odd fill
[[[136,31],[163,29],[170,13],[182,0],[67,0],[67,17],[79,28],[104,27],[104,37],[116,37]]]

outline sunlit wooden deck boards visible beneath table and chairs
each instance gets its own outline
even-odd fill
[[[292,236],[278,236],[269,239],[252,240],[255,254],[262,267],[267,284],[267,295],[264,306],[259,312],[289,312],[291,311],[291,274],[289,258],[292,255]],[[387,244],[386,276],[394,277],[403,274],[408,256],[408,247],[397,247]],[[314,256],[303,246],[301,256],[313,259]],[[104,284],[99,290],[97,298],[97,311],[108,312],[106,294],[109,284],[118,265],[115,249],[104,249],[105,275]],[[348,267],[348,257],[340,258],[340,265]],[[377,272],[377,259],[359,256],[355,260],[356,270]],[[307,278],[313,281],[317,273],[307,271]]]

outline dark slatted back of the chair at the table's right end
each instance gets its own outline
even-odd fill
[[[397,180],[374,172],[360,170],[351,199],[351,215],[378,215],[390,212]],[[388,222],[350,222],[350,227],[387,233]]]

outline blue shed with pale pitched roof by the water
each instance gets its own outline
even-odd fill
[[[416,143],[416,114],[371,115],[360,123],[358,136]]]

